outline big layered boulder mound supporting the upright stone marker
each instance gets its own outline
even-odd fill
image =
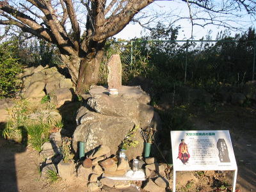
[[[82,106],[77,113],[77,127],[73,135],[75,150],[77,142],[83,141],[86,152],[98,145],[108,145],[111,154],[116,154],[118,146],[134,125],[147,129],[157,124],[154,120],[156,113],[148,105],[150,97],[140,86],[122,86],[118,92],[117,97],[109,97],[108,89],[103,86],[91,88],[87,106]],[[140,130],[135,132],[134,140],[139,144],[127,150],[129,159],[141,156],[143,152]]]

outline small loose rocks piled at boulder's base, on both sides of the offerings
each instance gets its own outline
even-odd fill
[[[88,161],[90,160],[90,161]],[[171,185],[167,175],[170,167],[157,163],[154,157],[138,157],[139,169],[147,174],[139,186],[144,191],[166,191]],[[85,163],[84,163],[85,162]],[[113,180],[108,177],[123,177],[131,167],[127,160],[110,154],[108,146],[101,145],[92,150],[83,164],[77,168],[77,179],[86,183],[89,191],[138,191],[132,187],[131,180]]]

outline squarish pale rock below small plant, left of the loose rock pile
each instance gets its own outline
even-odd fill
[[[74,174],[74,163],[64,163],[63,161],[60,161],[58,166],[58,173],[62,180],[70,180],[71,177]]]

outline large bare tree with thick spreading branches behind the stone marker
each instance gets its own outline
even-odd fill
[[[98,81],[106,39],[124,29],[134,15],[153,1],[4,0],[0,1],[0,24],[15,25],[56,44],[76,84],[77,93],[83,93],[90,84]],[[255,16],[255,0],[222,0],[218,7],[214,6],[214,0],[179,1],[204,9],[205,14],[210,15],[210,22],[217,17],[214,15],[236,15],[239,9]],[[202,14],[197,16],[206,19]]]

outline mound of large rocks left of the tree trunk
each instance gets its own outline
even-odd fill
[[[74,87],[71,79],[65,78],[56,67],[30,67],[18,76],[22,90],[20,96],[31,102],[40,102],[48,94],[57,106],[72,101]]]

